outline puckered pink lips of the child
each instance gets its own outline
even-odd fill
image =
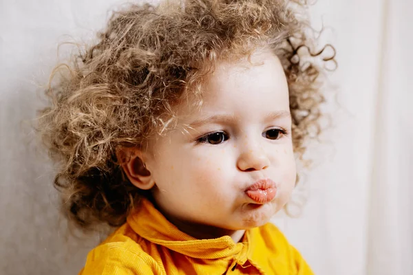
[[[251,184],[251,186],[248,186],[245,194],[255,201],[255,203],[268,203],[277,195],[277,184],[271,179],[261,179]]]

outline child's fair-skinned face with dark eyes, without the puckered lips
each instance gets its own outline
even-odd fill
[[[269,51],[251,61],[218,64],[202,109],[181,104],[178,128],[153,140],[145,164],[167,216],[242,230],[263,225],[290,198],[296,170],[286,77]],[[246,195],[260,179],[275,182],[272,201]]]

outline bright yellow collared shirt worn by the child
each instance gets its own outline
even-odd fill
[[[181,232],[147,200],[127,222],[89,252],[79,275],[313,274],[299,252],[271,223],[230,236],[195,239]]]

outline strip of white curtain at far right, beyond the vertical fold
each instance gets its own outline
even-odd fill
[[[369,274],[413,274],[413,10],[385,1],[375,107]]]

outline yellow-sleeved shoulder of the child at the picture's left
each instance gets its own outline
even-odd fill
[[[79,275],[162,274],[158,263],[130,236],[115,232],[87,254]]]

